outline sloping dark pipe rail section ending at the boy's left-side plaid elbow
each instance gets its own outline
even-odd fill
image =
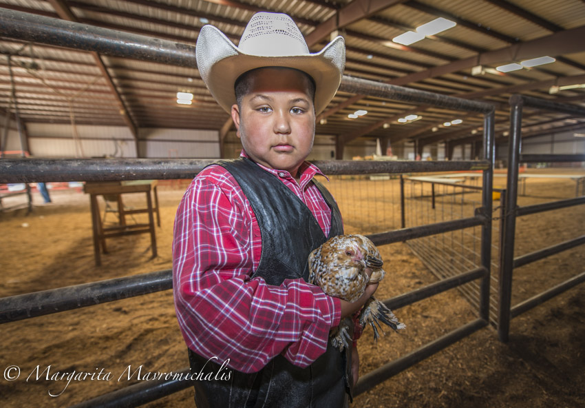
[[[164,269],[1,298],[0,324],[172,289],[172,274]]]

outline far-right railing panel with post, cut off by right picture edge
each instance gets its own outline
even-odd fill
[[[524,154],[520,155],[520,139],[522,138],[522,108],[536,108],[585,117],[585,108],[567,103],[558,103],[538,99],[532,96],[514,94],[510,96],[510,137],[508,141],[508,178],[505,216],[502,227],[502,260],[500,261],[500,279],[498,294],[498,338],[502,342],[509,340],[510,320],[546,300],[565,292],[571,287],[585,282],[585,272],[573,276],[550,289],[511,306],[513,269],[546,258],[585,243],[585,236],[579,236],[551,247],[546,247],[531,254],[514,258],[514,240],[516,217],[556,210],[573,205],[585,204],[585,196],[561,201],[551,201],[538,205],[518,207],[518,167],[520,163],[558,163],[585,161],[585,154]],[[578,191],[578,190],[577,190]]]

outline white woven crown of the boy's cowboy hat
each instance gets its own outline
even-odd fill
[[[248,22],[238,48],[258,57],[308,55],[301,30],[286,14],[259,12]]]

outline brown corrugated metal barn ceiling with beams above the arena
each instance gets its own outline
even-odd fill
[[[585,103],[585,88],[577,86],[585,84],[583,0],[0,0],[0,8],[190,45],[208,21],[237,43],[255,12],[286,12],[312,52],[321,50],[332,32],[345,37],[346,75],[494,103],[497,138],[507,136],[507,101],[513,93]],[[392,41],[438,17],[456,26],[411,45]],[[136,136],[140,128],[222,130],[228,121],[196,67],[105,57],[6,37],[0,37],[0,54],[0,109],[6,113],[9,108],[14,83],[24,124],[74,120],[123,125]],[[555,61],[512,72],[496,70],[522,62],[518,55]],[[193,93],[193,103],[179,105],[177,92]],[[10,110],[14,112],[14,105]],[[368,113],[348,117],[357,110]],[[407,115],[416,120],[398,121]],[[461,123],[444,125],[456,120]],[[524,136],[581,125],[585,127],[585,118],[527,110]],[[377,137],[468,143],[481,127],[478,114],[344,92],[317,118],[317,134],[343,136],[345,143]]]

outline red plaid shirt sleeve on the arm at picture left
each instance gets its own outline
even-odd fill
[[[175,310],[187,346],[238,371],[278,354],[300,367],[326,350],[339,325],[339,299],[301,279],[279,287],[251,279],[262,241],[233,177],[211,166],[184,194],[175,218]]]

